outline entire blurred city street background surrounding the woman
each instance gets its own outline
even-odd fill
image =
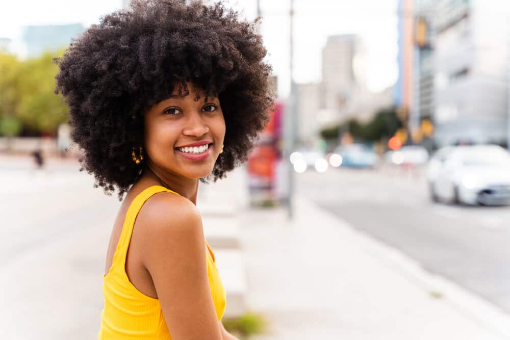
[[[225,327],[259,340],[510,338],[510,3],[226,6],[263,17],[278,98],[248,162],[199,188]],[[120,202],[78,171],[52,58],[119,9],[129,2],[0,5],[3,338],[99,329]]]

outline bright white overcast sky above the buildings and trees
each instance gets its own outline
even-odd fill
[[[248,20],[257,15],[256,0],[228,0]],[[103,14],[122,7],[121,0],[17,0],[0,5],[0,38],[15,41],[20,49],[22,25],[99,22]],[[266,60],[278,76],[278,95],[290,90],[290,0],[260,0],[261,33]],[[294,80],[319,82],[322,48],[328,35],[358,34],[365,46],[358,67],[370,91],[378,92],[397,79],[396,0],[294,0]],[[30,10],[27,10],[30,9]]]

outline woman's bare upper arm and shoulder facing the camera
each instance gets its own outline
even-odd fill
[[[156,194],[146,204],[138,217],[145,228],[142,260],[172,339],[222,340],[198,210],[186,198],[171,193]]]

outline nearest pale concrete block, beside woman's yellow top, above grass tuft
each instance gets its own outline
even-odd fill
[[[247,281],[243,254],[239,250],[213,248],[223,287],[226,292],[226,318],[240,317],[246,312]]]

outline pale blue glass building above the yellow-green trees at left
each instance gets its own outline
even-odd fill
[[[31,25],[23,27],[23,41],[27,46],[27,58],[41,55],[46,50],[66,47],[72,38],[79,36],[85,28],[81,23],[68,25]]]

